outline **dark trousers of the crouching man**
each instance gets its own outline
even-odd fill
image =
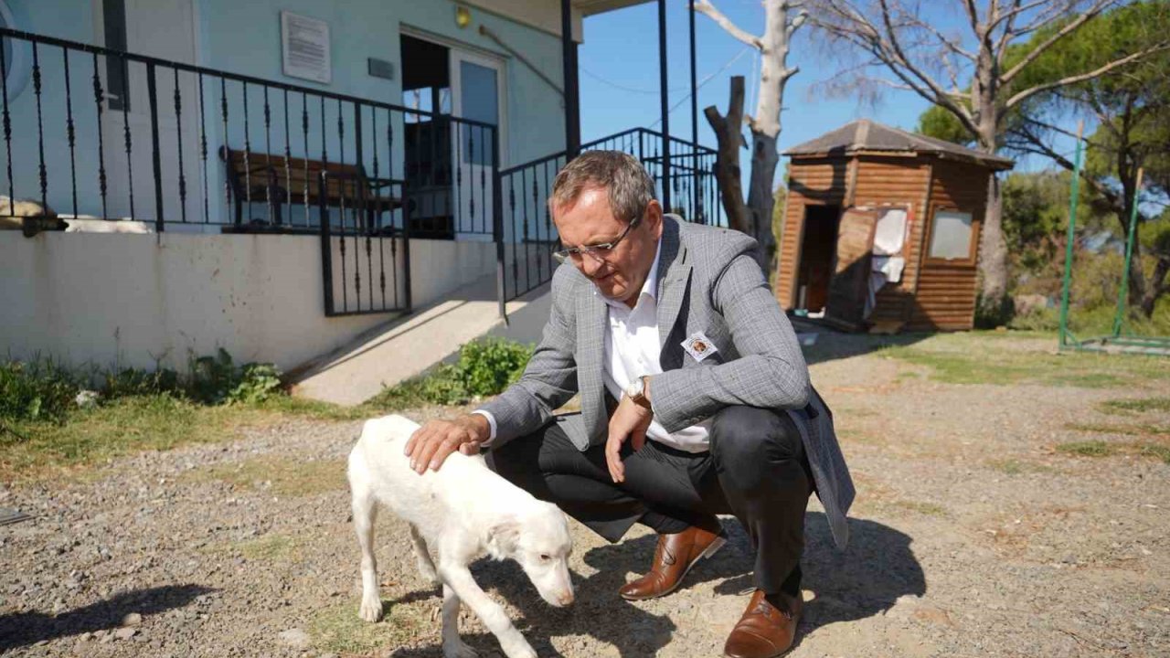
[[[756,587],[768,594],[800,591],[812,475],[800,432],[786,413],[725,407],[711,423],[710,451],[702,453],[654,440],[634,452],[627,443],[620,485],[610,478],[604,445],[580,452],[557,423],[494,448],[488,462],[611,542],[635,522],[665,534],[690,526],[716,530],[716,514],[735,514],[756,549]]]

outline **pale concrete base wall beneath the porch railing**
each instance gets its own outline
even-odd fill
[[[490,242],[411,256],[415,308],[495,272]],[[0,281],[6,356],[75,365],[183,369],[222,347],[288,370],[392,317],[325,317],[321,241],[301,235],[0,232]]]

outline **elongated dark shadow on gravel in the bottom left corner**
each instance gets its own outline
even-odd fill
[[[16,612],[0,617],[0,651],[83,632],[116,629],[130,612],[144,617],[184,605],[215,591],[201,585],[166,585],[119,594],[60,615]]]

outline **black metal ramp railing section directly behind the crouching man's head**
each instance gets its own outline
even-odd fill
[[[658,185],[662,198],[662,133],[634,128],[581,144],[581,151],[613,150],[636,157]],[[503,300],[514,300],[552,280],[559,244],[549,214],[552,180],[565,165],[566,152],[500,171],[503,191]],[[727,225],[718,203],[715,150],[670,138],[672,208],[687,221]]]

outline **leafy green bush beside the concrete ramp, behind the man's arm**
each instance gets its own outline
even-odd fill
[[[419,404],[455,405],[503,392],[519,379],[532,348],[503,338],[480,338],[460,348],[459,361],[422,377],[384,389],[371,404],[402,409]]]

